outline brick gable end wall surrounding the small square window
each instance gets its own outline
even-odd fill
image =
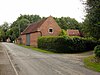
[[[53,29],[53,33],[49,33],[49,28]],[[58,26],[56,21],[49,17],[40,27],[43,36],[58,36],[61,32],[61,28]]]

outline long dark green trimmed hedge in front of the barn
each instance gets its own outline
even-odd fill
[[[38,39],[38,47],[59,53],[76,53],[93,50],[96,41],[80,37],[43,36]]]

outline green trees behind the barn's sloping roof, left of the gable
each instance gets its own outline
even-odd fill
[[[11,24],[7,35],[9,35],[11,41],[14,41],[20,36],[20,33],[23,32],[30,23],[37,22],[39,20],[41,20],[39,15],[20,15],[17,20]]]

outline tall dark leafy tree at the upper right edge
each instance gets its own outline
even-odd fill
[[[84,21],[84,32],[87,36],[100,38],[100,0],[86,1],[86,19]]]

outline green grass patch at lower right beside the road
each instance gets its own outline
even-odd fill
[[[95,60],[95,56],[89,56],[84,59],[84,64],[87,68],[100,72],[100,62],[96,63],[93,60]]]

